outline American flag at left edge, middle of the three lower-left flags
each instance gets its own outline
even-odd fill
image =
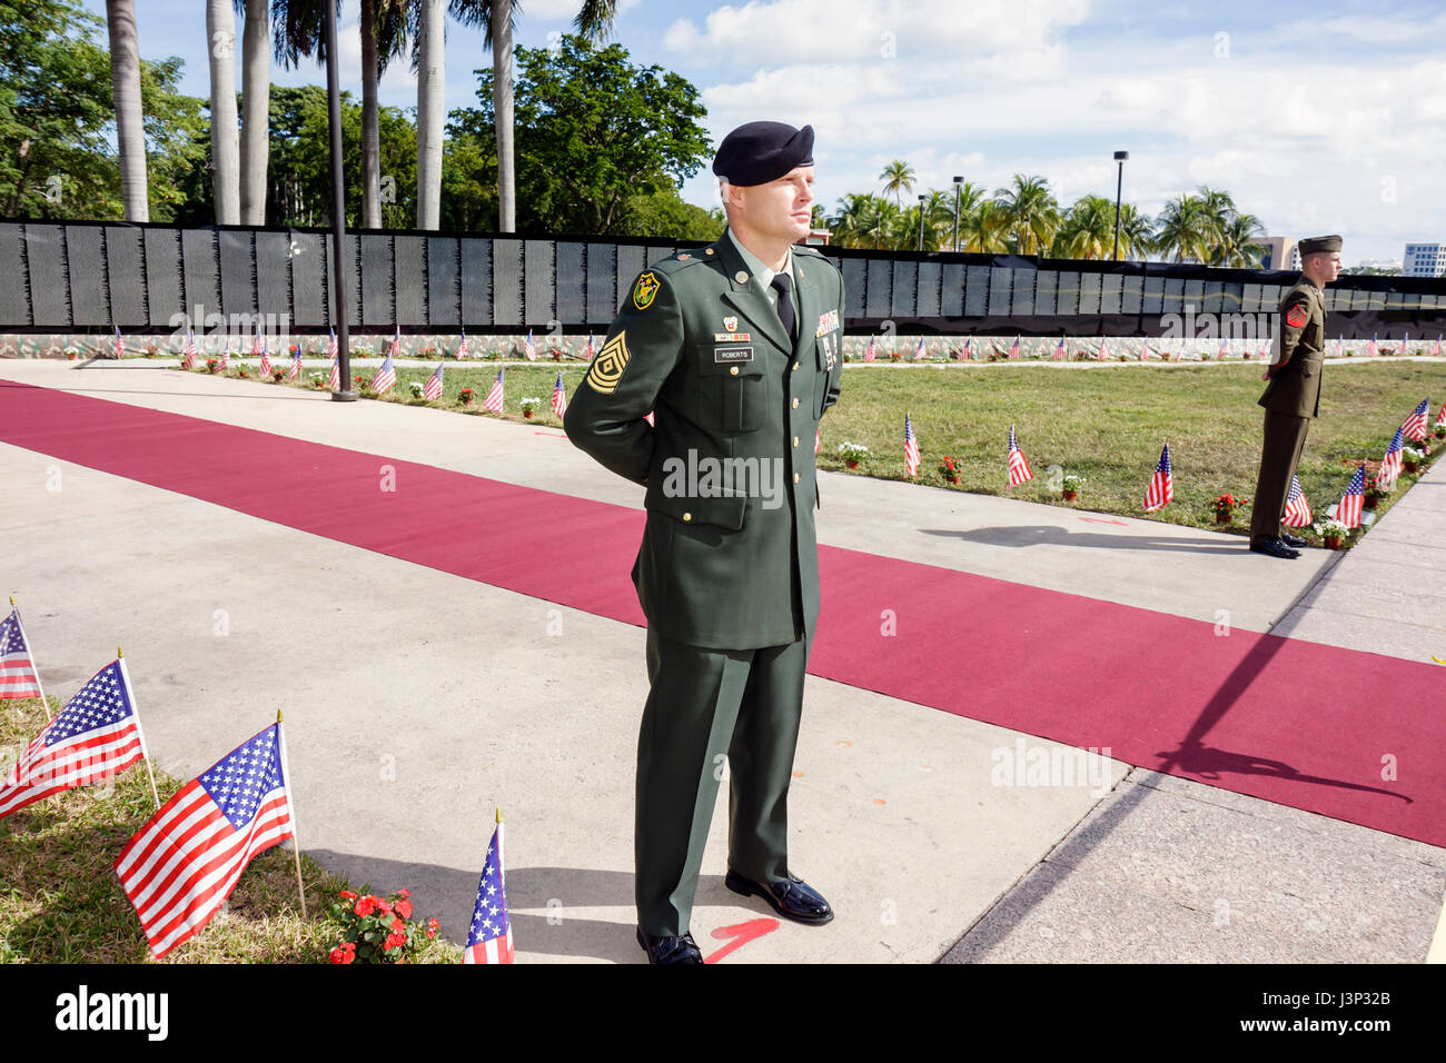
[[[136,700],[120,658],[65,703],[0,782],[0,817],[145,759]]]

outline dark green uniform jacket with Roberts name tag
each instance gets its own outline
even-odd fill
[[[797,343],[727,234],[645,269],[562,418],[577,447],[648,487],[632,577],[648,623],[678,642],[814,632],[814,432],[839,398],[843,276],[808,247],[792,262]]]

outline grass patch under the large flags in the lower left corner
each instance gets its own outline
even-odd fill
[[[55,699],[51,704],[52,712],[61,707]],[[17,755],[42,727],[39,699],[0,701],[0,754]],[[156,775],[162,803],[181,785]],[[111,868],[153,811],[146,768],[136,764],[110,787],[69,790],[0,819],[0,963],[155,963]],[[350,887],[305,853],[301,869],[305,918],[295,859],[276,846],[250,862],[226,908],[201,933],[159,962],[325,963],[341,940],[327,905]],[[416,917],[425,923],[428,914]],[[422,946],[418,960],[460,963],[461,953],[438,937]]]

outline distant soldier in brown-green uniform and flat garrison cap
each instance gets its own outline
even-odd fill
[[[1320,367],[1326,357],[1326,294],[1340,275],[1340,237],[1300,242],[1300,282],[1280,301],[1280,347],[1265,369],[1265,440],[1251,515],[1251,550],[1270,557],[1300,557],[1306,541],[1285,534],[1281,518],[1290,482],[1306,445],[1306,431],[1320,412]]]

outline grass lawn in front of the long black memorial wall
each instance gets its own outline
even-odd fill
[[[558,369],[571,395],[587,372],[586,364],[508,366],[502,417],[521,421],[518,401],[528,395],[542,399],[532,422],[560,427],[547,405]],[[373,372],[364,369],[360,375]],[[1261,372],[1259,362],[1098,367],[849,363],[839,404],[823,421],[818,467],[844,470],[836,448],[847,440],[872,451],[850,474],[907,479],[902,438],[904,412],[908,411],[923,451],[917,483],[1147,516],[1141,512],[1145,487],[1160,460],[1160,448],[1168,441],[1174,502],[1148,518],[1213,529],[1219,528],[1210,509],[1216,496],[1252,498],[1255,493],[1264,415],[1255,401],[1265,388]],[[496,373],[496,364],[448,362],[442,401],[422,402],[411,398],[408,380],[425,380],[431,370],[399,367],[398,385],[385,401],[496,417],[480,411]],[[476,392],[471,408],[457,401],[463,388]],[[1446,363],[1326,364],[1320,417],[1310,427],[1299,469],[1317,519],[1339,500],[1356,461],[1368,461],[1368,471],[1374,471],[1395,427],[1427,395],[1436,404],[1446,398]],[[1436,408],[1433,405],[1433,415]],[[1034,470],[1034,480],[1014,490],[1008,489],[1005,473],[1011,424]],[[947,484],[938,471],[944,456],[960,466],[957,486]],[[1061,500],[1057,477],[1050,476],[1051,466],[1086,477],[1077,502]],[[1403,476],[1377,512],[1384,512],[1414,480],[1414,476]],[[1226,528],[1244,532],[1248,525],[1249,509],[1242,509]]]

